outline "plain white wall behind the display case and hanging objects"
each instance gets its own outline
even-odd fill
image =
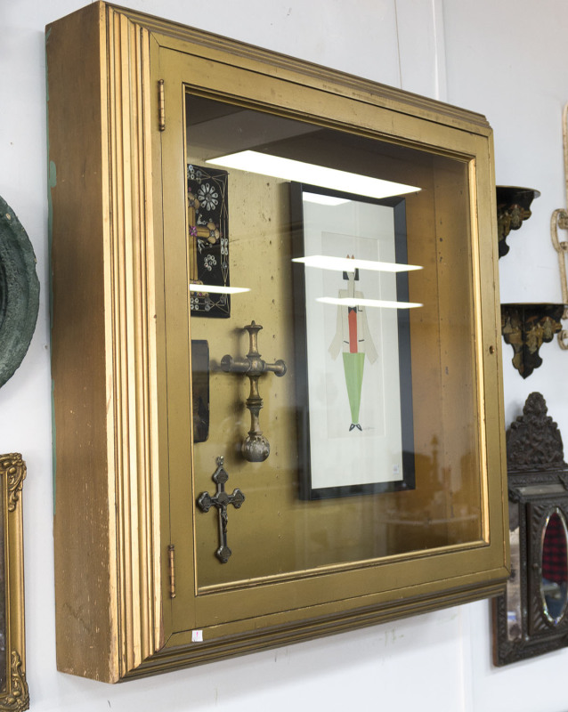
[[[564,0],[124,2],[484,113],[495,130],[497,182],[542,192],[531,220],[511,235],[510,253],[500,261],[502,301],[560,300],[549,219],[556,207],[565,207]],[[44,26],[82,4],[0,0],[0,195],[28,231],[42,283],[30,350],[0,390],[0,452],[21,451],[28,463],[24,536],[32,709],[568,709],[568,651],[505,669],[491,666],[487,602],[117,686],[56,672]],[[568,433],[568,382],[562,376],[568,353],[545,344],[543,366],[525,382],[503,345],[507,423],[520,414],[528,393],[538,390]]]

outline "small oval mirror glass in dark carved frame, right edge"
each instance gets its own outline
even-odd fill
[[[566,610],[566,585],[568,559],[566,552],[566,521],[564,514],[555,509],[548,517],[542,532],[542,580],[540,593],[545,615],[558,623]]]

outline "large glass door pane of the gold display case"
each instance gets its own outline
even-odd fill
[[[198,587],[479,541],[467,161],[191,93],[186,131],[195,490],[245,497]]]

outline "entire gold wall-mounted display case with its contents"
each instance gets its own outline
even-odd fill
[[[502,591],[485,118],[102,2],[46,43],[59,668]]]

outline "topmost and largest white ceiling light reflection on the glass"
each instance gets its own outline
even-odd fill
[[[272,178],[283,178],[285,181],[309,183],[321,188],[349,190],[350,193],[364,195],[368,198],[387,198],[391,195],[402,195],[420,190],[412,185],[382,181],[380,178],[338,171],[336,168],[314,166],[303,161],[270,156],[268,153],[258,153],[256,150],[242,150],[228,156],[209,158],[206,163],[236,168],[239,171],[271,175]]]

